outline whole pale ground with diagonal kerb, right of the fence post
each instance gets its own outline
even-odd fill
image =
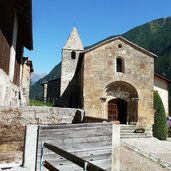
[[[125,157],[124,157],[125,156]],[[171,170],[171,141],[156,138],[121,139],[122,171]]]

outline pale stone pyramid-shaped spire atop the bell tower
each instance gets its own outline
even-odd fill
[[[77,29],[73,27],[63,49],[84,50]]]

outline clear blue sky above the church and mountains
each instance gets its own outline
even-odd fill
[[[61,60],[72,27],[88,46],[154,19],[171,16],[171,0],[32,0],[33,51],[25,56],[36,73],[49,73]]]

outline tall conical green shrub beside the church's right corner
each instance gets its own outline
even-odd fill
[[[153,125],[153,136],[159,140],[166,140],[168,135],[168,128],[166,123],[166,114],[163,106],[163,102],[158,94],[154,92],[154,125]]]

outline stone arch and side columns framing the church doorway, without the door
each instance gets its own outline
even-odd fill
[[[108,118],[108,102],[112,99],[122,99],[127,102],[127,124],[138,122],[138,92],[128,82],[114,81],[108,84],[102,94],[102,117]]]

